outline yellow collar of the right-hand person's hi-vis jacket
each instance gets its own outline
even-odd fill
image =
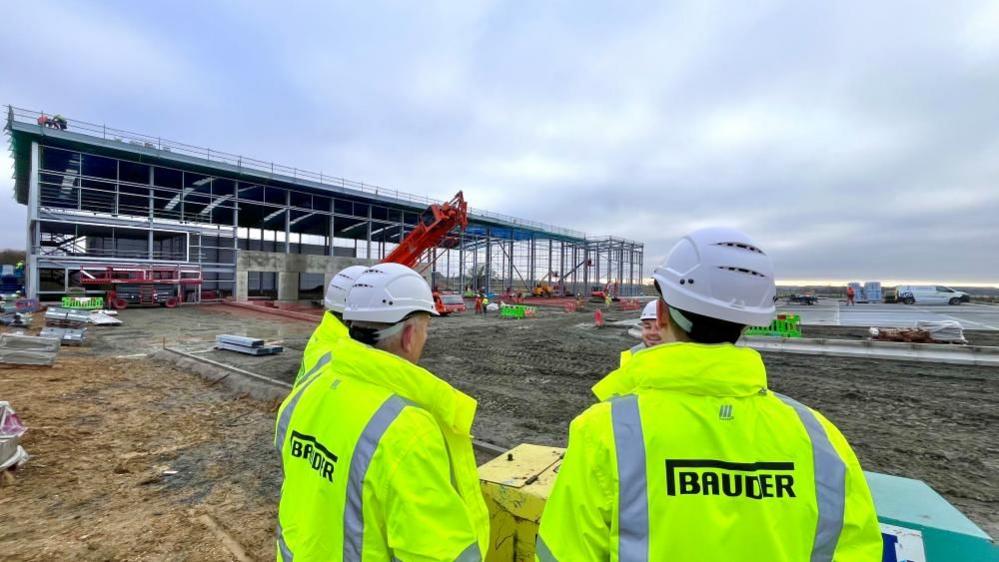
[[[704,396],[750,396],[767,388],[760,354],[732,344],[668,343],[637,351],[593,386],[599,400],[642,389]]]

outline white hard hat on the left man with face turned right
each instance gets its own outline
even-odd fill
[[[343,319],[395,324],[413,312],[438,316],[430,286],[402,264],[380,263],[354,280]]]

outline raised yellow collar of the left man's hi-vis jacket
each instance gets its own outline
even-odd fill
[[[337,375],[380,386],[415,403],[453,433],[472,434],[475,400],[419,365],[343,338],[333,346],[332,367]]]

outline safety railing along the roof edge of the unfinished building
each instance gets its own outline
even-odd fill
[[[43,111],[35,111],[31,109],[25,109],[23,107],[8,105],[7,127],[12,127],[14,121],[37,123],[38,118],[42,115],[52,117],[58,114],[47,114]],[[240,169],[246,168],[257,172],[270,173],[271,175],[279,174],[282,176],[290,177],[292,179],[310,180],[330,187],[353,189],[371,195],[384,195],[388,197],[394,197],[396,199],[400,199],[403,201],[420,203],[422,205],[440,204],[444,202],[437,199],[432,199],[430,197],[424,197],[421,195],[406,193],[404,191],[399,191],[397,189],[385,188],[337,176],[329,176],[324,174],[323,172],[312,172],[291,166],[275,164],[274,162],[265,162],[263,160],[257,160],[255,158],[240,156],[238,154],[231,154],[221,150],[213,150],[210,148],[204,148],[182,142],[172,141],[164,139],[163,137],[153,137],[142,133],[127,131],[125,129],[108,127],[107,125],[104,124],[90,123],[87,121],[82,121],[80,119],[69,119],[62,115],[59,115],[59,117],[65,119],[67,129],[70,129],[76,133],[82,133],[92,137],[99,137],[103,140],[117,141],[124,144],[142,146],[144,148],[152,148],[162,152],[183,154],[186,156],[194,156],[197,158],[203,158],[211,162],[218,162],[221,164],[236,166],[237,168]],[[584,240],[587,238],[591,238],[587,237],[585,232],[580,232],[578,230],[563,228],[560,226],[555,226],[552,224],[547,224],[539,221],[521,219],[510,215],[504,215],[502,213],[494,213],[491,211],[486,211],[483,209],[476,209],[476,208],[470,208],[469,212],[483,218],[499,220],[506,223],[510,223],[515,226],[539,229],[550,232],[552,234],[571,236],[573,238],[580,238]],[[639,244],[639,242],[635,243]]]

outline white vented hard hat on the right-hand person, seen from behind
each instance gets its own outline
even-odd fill
[[[774,318],[774,267],[748,236],[733,228],[703,228],[673,246],[652,277],[666,304],[743,324]]]

